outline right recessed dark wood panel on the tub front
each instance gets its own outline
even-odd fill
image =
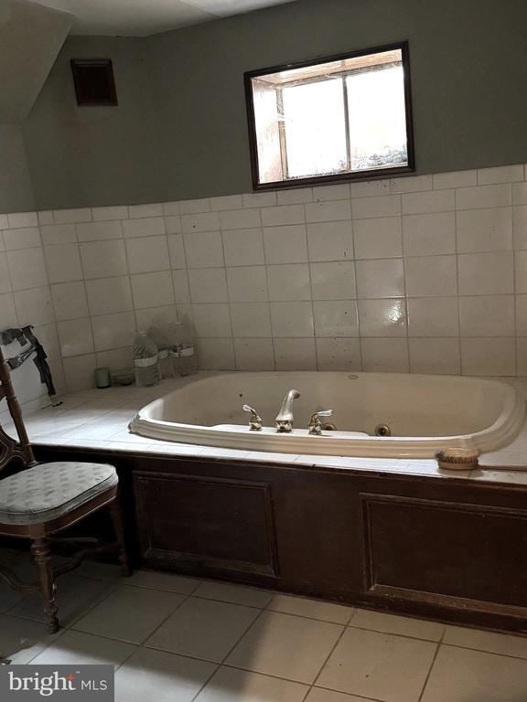
[[[527,616],[526,511],[390,495],[361,502],[366,592]]]

